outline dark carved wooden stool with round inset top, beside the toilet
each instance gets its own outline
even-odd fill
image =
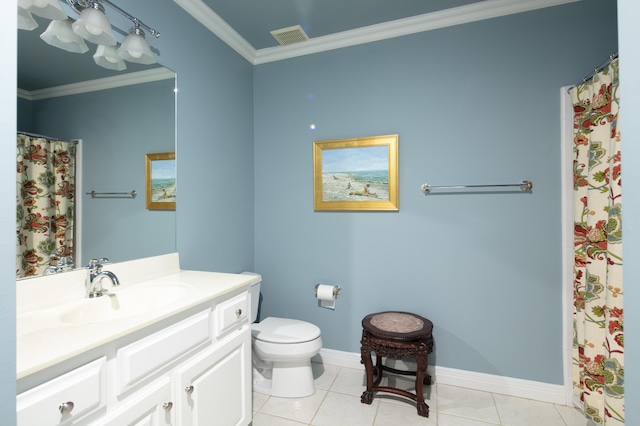
[[[367,389],[360,401],[371,404],[376,392],[389,392],[416,401],[418,415],[429,417],[429,406],[424,402],[422,385],[431,384],[427,374],[427,356],[433,350],[431,332],[433,323],[426,318],[408,312],[379,312],[369,314],[362,320],[361,360],[367,375]],[[373,366],[371,352],[376,354]],[[403,371],[382,364],[382,358],[415,359],[416,371]],[[415,375],[416,391],[380,386],[382,371],[395,374]]]

